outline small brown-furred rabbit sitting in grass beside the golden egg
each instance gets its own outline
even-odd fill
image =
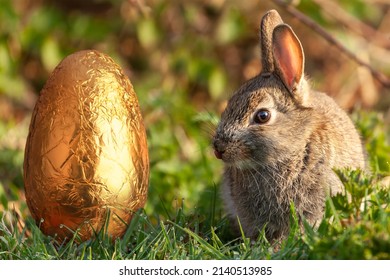
[[[304,77],[300,41],[275,10],[261,21],[262,72],[231,97],[214,136],[225,164],[226,210],[245,234],[265,226],[270,241],[289,232],[290,205],[315,226],[326,194],[342,191],[334,168],[366,169],[348,115]]]

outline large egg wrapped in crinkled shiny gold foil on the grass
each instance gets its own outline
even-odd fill
[[[107,55],[66,57],[42,89],[24,158],[26,201],[46,235],[121,237],[147,198],[149,159],[137,96]],[[110,217],[107,220],[107,217]]]

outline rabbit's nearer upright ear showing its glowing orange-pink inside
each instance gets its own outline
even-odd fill
[[[272,41],[275,72],[294,92],[300,86],[304,74],[305,57],[301,42],[287,24],[274,29]]]

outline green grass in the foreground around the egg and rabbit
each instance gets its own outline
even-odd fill
[[[40,232],[23,200],[17,210],[3,198],[8,208],[3,206],[1,213],[0,259],[390,259],[390,192],[378,184],[389,172],[387,130],[378,114],[361,113],[359,118],[373,172],[338,171],[350,198],[341,194],[328,198],[317,230],[306,225],[301,233],[292,215],[291,233],[281,244],[269,244],[262,234],[257,240],[233,236],[221,210],[218,186],[209,176],[216,160],[199,156],[178,170],[155,172],[152,164],[150,202],[136,213],[122,239],[110,240],[102,230],[94,240],[77,244],[75,235],[69,243],[58,244]],[[157,152],[151,151],[152,159]],[[171,160],[178,166],[180,158]],[[197,168],[208,171],[185,172]],[[184,193],[194,201],[183,198],[177,191],[181,186],[169,185],[172,182],[192,187]]]

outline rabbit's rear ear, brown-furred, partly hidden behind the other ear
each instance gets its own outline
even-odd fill
[[[282,23],[283,20],[276,10],[268,11],[261,19],[260,47],[263,72],[274,71],[274,59],[272,55],[272,32],[277,25]]]

